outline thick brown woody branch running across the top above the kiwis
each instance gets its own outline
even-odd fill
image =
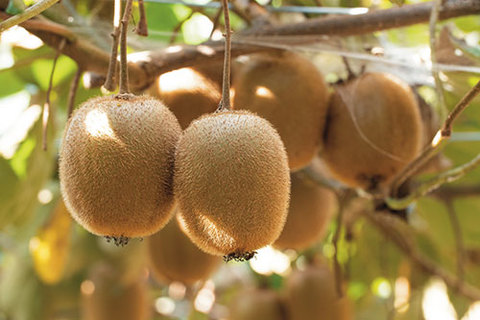
[[[359,35],[391,28],[404,27],[416,23],[429,21],[433,8],[432,2],[416,5],[405,5],[388,10],[372,11],[355,16],[332,16],[326,18],[310,19],[306,22],[282,26],[264,26],[242,32],[243,37],[253,36],[280,36],[280,35]],[[446,2],[440,12],[438,20],[445,20],[465,15],[480,13],[478,0],[451,0]],[[0,17],[6,19],[9,15],[1,13]],[[36,25],[33,25],[32,22]],[[39,36],[49,46],[58,47],[68,28],[52,22],[39,22],[28,20],[22,24],[29,31]],[[42,25],[42,27],[39,26]],[[46,24],[46,25],[45,25]],[[40,31],[42,30],[42,31]],[[316,41],[315,37],[311,40]],[[262,46],[232,44],[232,56],[247,54],[261,50],[268,50]],[[271,49],[270,49],[271,50]],[[85,71],[92,71],[101,75],[106,74],[109,54],[98,49],[84,39],[74,37],[63,50]],[[223,58],[223,41],[209,41],[199,46],[177,46],[158,51],[147,52],[136,63],[129,64],[130,86],[139,90],[149,86],[156,76],[176,68],[186,67],[207,61]]]

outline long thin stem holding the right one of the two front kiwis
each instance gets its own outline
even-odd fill
[[[223,81],[222,81],[222,100],[217,111],[230,110],[230,61],[231,61],[231,32],[230,13],[228,10],[228,0],[222,0],[223,15],[225,20],[225,53],[223,60]]]

